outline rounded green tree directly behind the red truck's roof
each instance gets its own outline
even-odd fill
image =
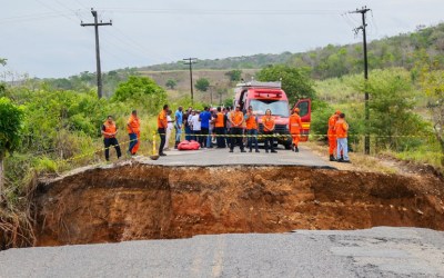
[[[315,99],[313,81],[309,78],[309,72],[303,69],[292,68],[284,64],[271,66],[256,73],[260,81],[282,80],[282,89],[286,92],[290,103],[297,99]]]

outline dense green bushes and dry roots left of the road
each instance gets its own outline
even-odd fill
[[[6,200],[0,202],[0,249],[1,245],[28,245],[32,238],[28,197],[37,176],[102,161],[100,127],[109,115],[120,129],[122,149],[128,148],[124,127],[133,109],[142,122],[140,152],[149,155],[145,142],[155,130],[152,115],[167,101],[164,89],[145,77],[130,77],[112,98],[102,99],[92,88],[59,90],[44,82],[31,83],[7,86],[0,96],[0,162],[4,157],[6,169],[6,188],[0,191]]]

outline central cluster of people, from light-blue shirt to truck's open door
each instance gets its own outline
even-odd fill
[[[230,152],[234,151],[236,146],[240,147],[241,152],[246,152],[244,149],[243,138],[246,136],[246,147],[250,152],[258,148],[259,137],[259,117],[253,112],[250,106],[245,111],[241,111],[241,107],[235,106],[234,110],[231,108],[218,107],[215,111],[210,111],[208,107],[201,112],[189,108],[184,113],[182,107],[179,107],[175,112],[175,129],[176,135],[180,135],[181,127],[184,126],[185,139],[195,140],[203,148],[213,148],[212,135],[216,137],[216,148],[230,148]],[[272,111],[268,109],[265,115],[261,118],[263,123],[263,135],[265,137],[265,152],[278,152],[274,149],[274,130],[275,121]],[[299,108],[293,110],[290,117],[289,130],[293,138],[292,149],[299,152],[297,143],[301,135],[302,122],[299,117]],[[179,132],[178,132],[179,131]],[[175,148],[180,142],[180,136],[176,137]]]

